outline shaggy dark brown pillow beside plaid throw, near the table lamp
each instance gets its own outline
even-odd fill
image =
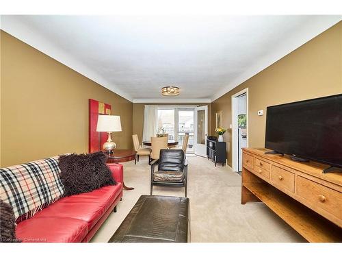
[[[65,195],[91,192],[116,182],[107,166],[106,156],[101,151],[93,154],[70,154],[60,156],[60,178]]]

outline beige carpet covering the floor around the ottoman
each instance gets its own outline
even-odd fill
[[[302,242],[302,237],[262,203],[241,205],[241,176],[228,167],[189,156],[188,195],[192,242]],[[150,193],[147,158],[124,163],[124,191],[118,212],[111,213],[92,242],[107,242],[140,195]],[[184,196],[183,188],[154,187],[154,195]]]

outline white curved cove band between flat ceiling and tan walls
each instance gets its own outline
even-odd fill
[[[231,82],[223,81],[219,90],[212,90],[210,95],[206,95],[206,97],[209,98],[198,99],[181,99],[178,97],[133,99],[133,96],[131,95],[132,93],[130,93],[130,91],[128,91],[126,88],[118,84],[114,84],[114,82],[109,82],[109,79],[105,77],[105,75],[94,71],[94,69],[90,69],[86,63],[73,58],[67,50],[58,47],[56,42],[53,42],[53,40],[48,40],[46,37],[44,37],[44,34],[40,33],[38,27],[26,24],[25,22],[21,21],[18,16],[0,16],[0,26],[5,32],[8,32],[19,40],[22,40],[23,42],[27,43],[27,45],[38,49],[47,56],[50,56],[58,62],[61,62],[70,69],[73,69],[89,79],[92,79],[94,82],[111,90],[121,97],[132,101],[133,103],[211,103],[219,97],[222,97],[222,95],[228,93],[236,86],[239,86],[239,84],[246,82],[246,80],[263,71],[268,66],[274,64],[274,62],[280,60],[284,56],[287,56],[287,54],[291,53],[291,51],[298,49],[298,47],[315,38],[315,36],[318,36],[322,32],[326,31],[326,29],[341,21],[341,18],[341,15],[321,15],[318,16],[317,19],[313,19],[312,22],[300,26],[300,28],[296,29],[291,36],[279,42],[278,45],[274,45],[272,49],[269,49],[269,51],[265,53],[265,56],[258,58],[256,61],[251,60],[251,66],[246,67],[246,70],[244,70],[243,73],[236,75],[237,77],[235,77],[235,79],[233,79]]]

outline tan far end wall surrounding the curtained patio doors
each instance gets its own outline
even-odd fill
[[[144,106],[208,106],[208,132],[211,131],[211,103],[133,103],[133,134],[137,134],[140,144],[144,129]]]

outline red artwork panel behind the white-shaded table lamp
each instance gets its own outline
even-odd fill
[[[103,143],[107,141],[108,134],[106,132],[96,132],[98,115],[110,115],[111,106],[107,103],[101,103],[94,99],[89,99],[89,153],[101,151]]]

